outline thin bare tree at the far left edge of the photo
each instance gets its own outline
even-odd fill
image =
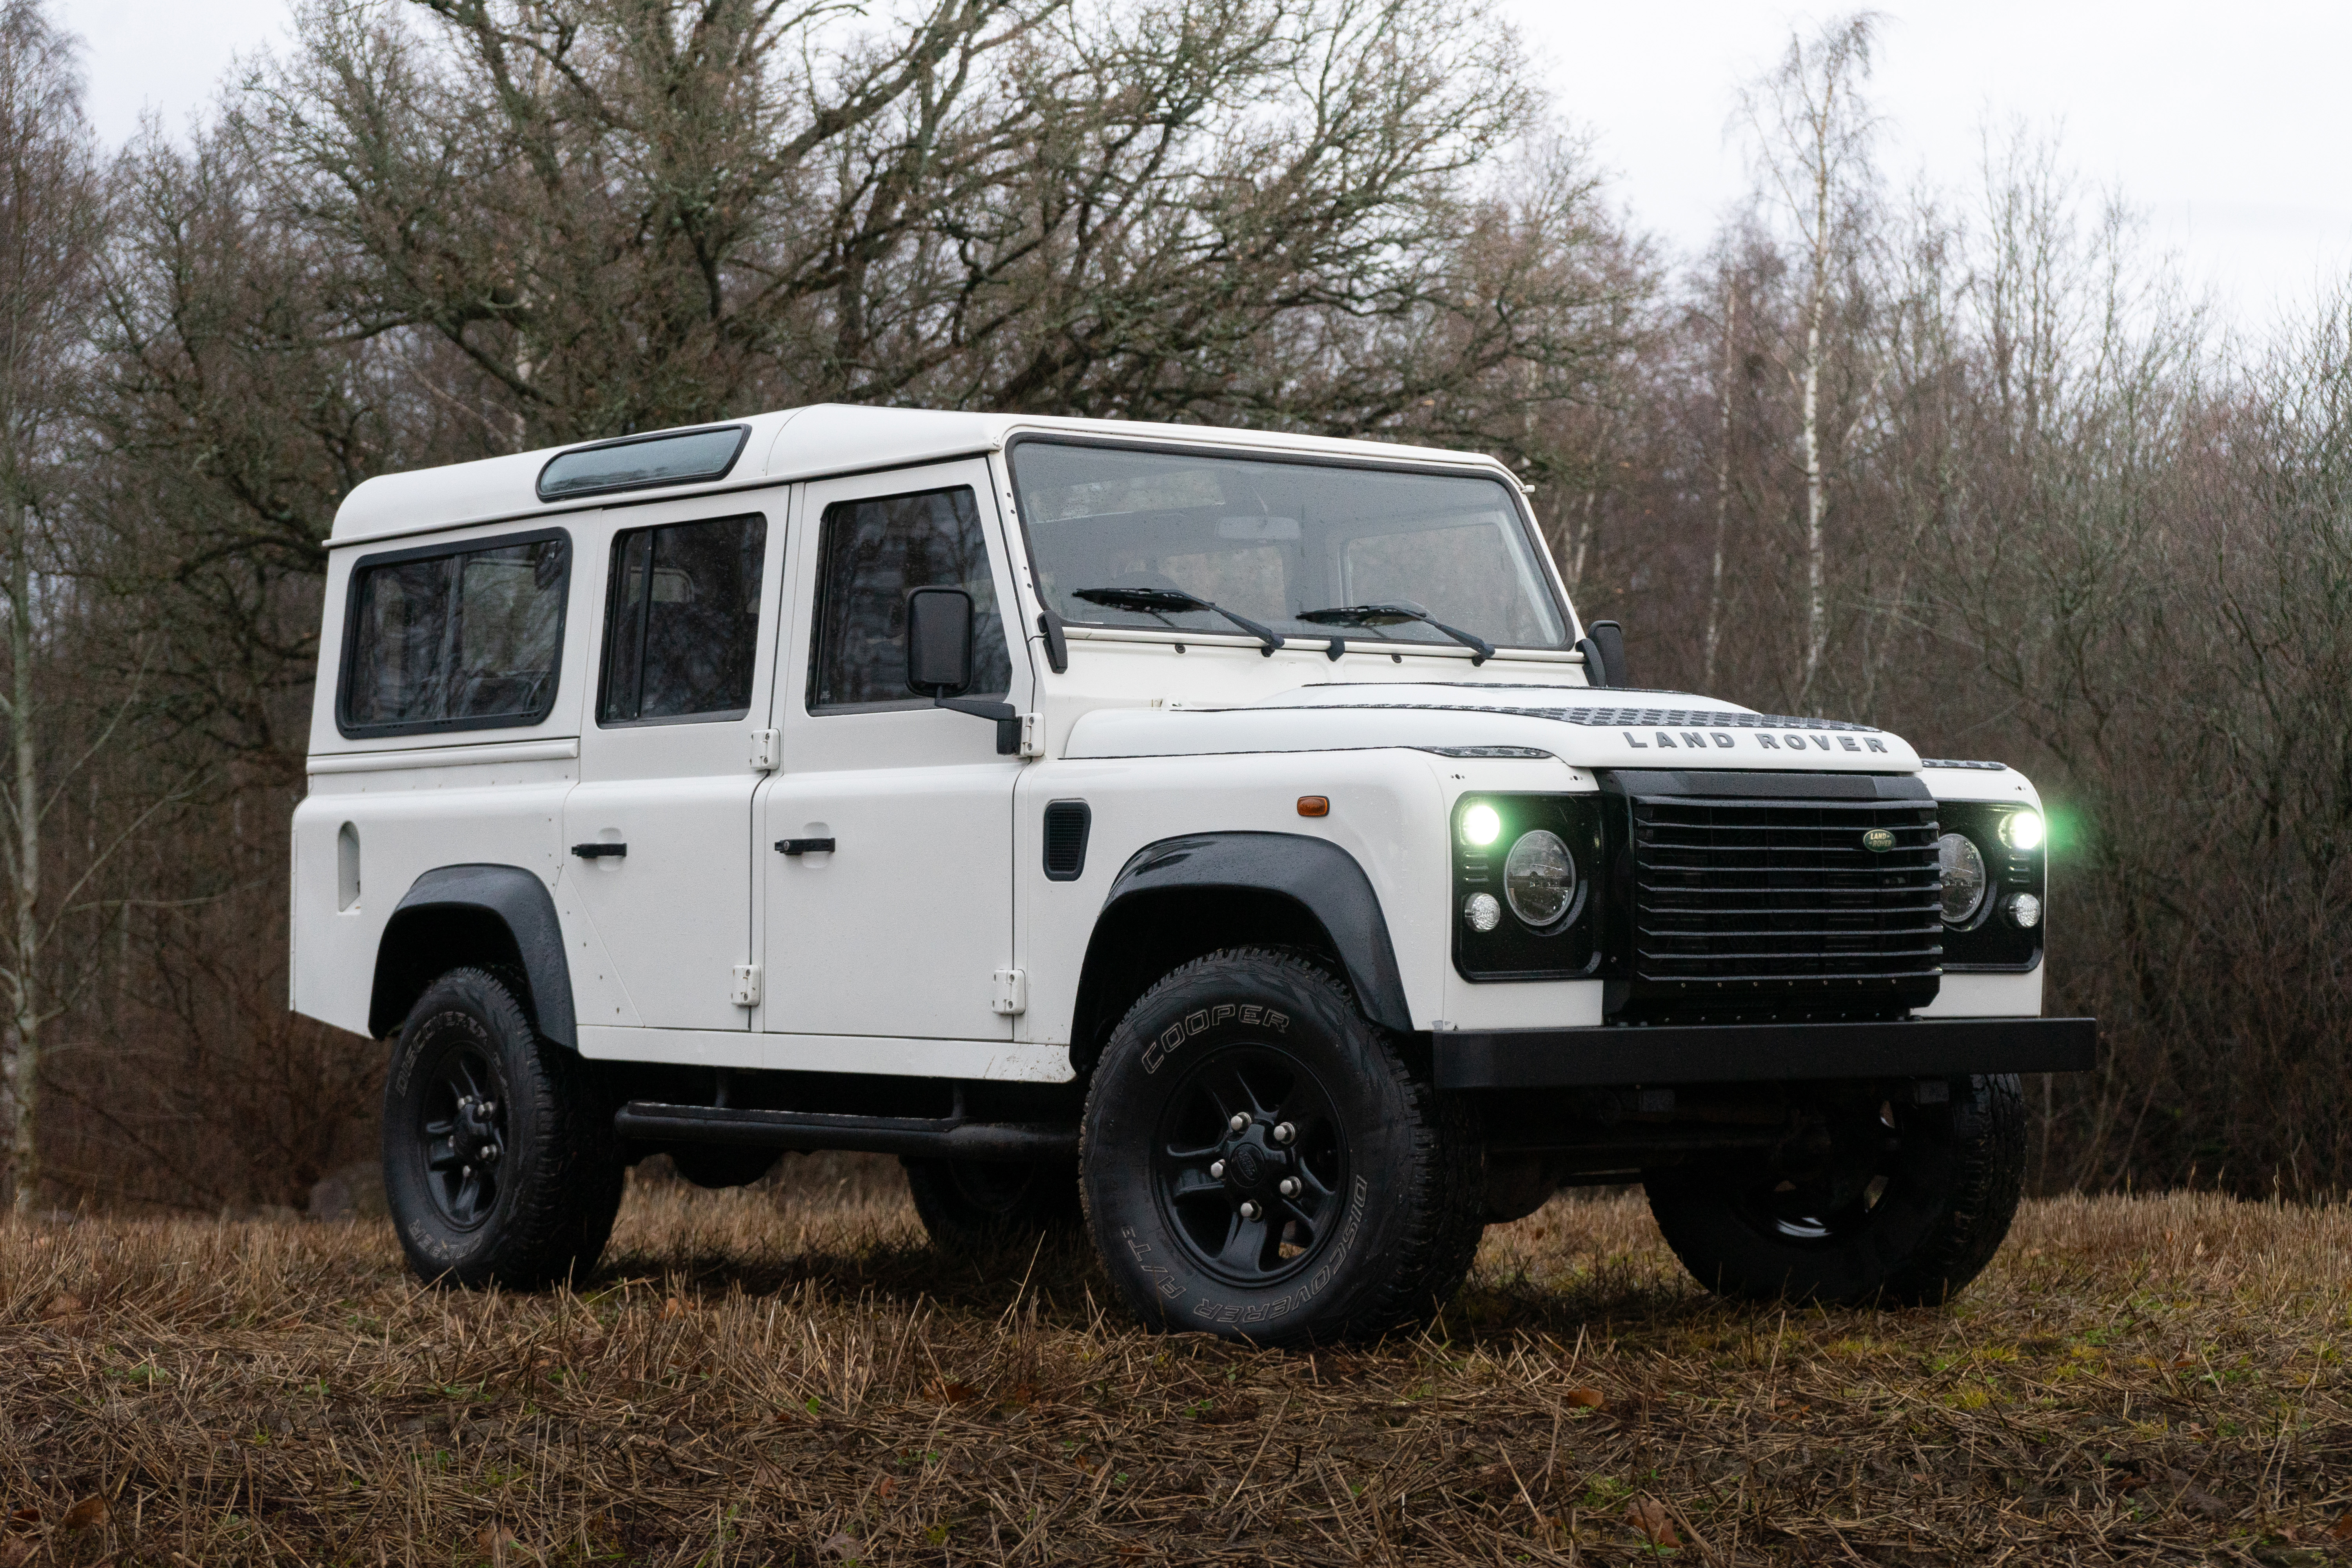
[[[0,588],[7,597],[9,766],[0,780],[9,835],[0,867],[9,879],[0,992],[7,1037],[0,1048],[0,1117],[7,1121],[7,1180],[19,1213],[40,1182],[42,994],[42,752],[35,663],[42,642],[45,574],[40,517],[54,487],[61,423],[73,376],[85,364],[82,310],[99,242],[99,174],[82,125],[75,40],[35,0],[0,7]]]

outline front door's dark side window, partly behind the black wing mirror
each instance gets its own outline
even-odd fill
[[[1011,686],[997,583],[969,487],[837,501],[826,508],[818,562],[811,712],[920,703],[906,689],[906,595],[915,588],[971,595],[971,696]]]

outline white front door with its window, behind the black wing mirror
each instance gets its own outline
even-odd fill
[[[802,498],[795,632],[776,715],[783,771],[760,797],[771,1034],[1011,1039],[993,1001],[1011,961],[1018,757],[997,726],[906,689],[906,595],[971,595],[969,696],[1030,698],[1007,642],[1011,578],[983,461],[828,480]],[[1011,654],[1009,654],[1011,649]]]

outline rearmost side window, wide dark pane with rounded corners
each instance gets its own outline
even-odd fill
[[[555,705],[572,541],[374,555],[350,574],[346,736],[539,724]]]

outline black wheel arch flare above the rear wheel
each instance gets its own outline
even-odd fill
[[[510,964],[541,1037],[579,1048],[572,966],[548,884],[520,865],[437,865],[409,884],[376,943],[367,1032],[388,1037],[416,997],[459,964]]]

